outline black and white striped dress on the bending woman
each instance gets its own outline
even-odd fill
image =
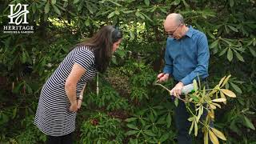
[[[44,134],[62,136],[74,131],[76,112],[69,111],[70,101],[65,91],[66,78],[74,63],[86,69],[86,73],[77,83],[77,97],[86,82],[97,74],[94,54],[88,47],[78,46],[70,51],[42,87],[34,124]]]

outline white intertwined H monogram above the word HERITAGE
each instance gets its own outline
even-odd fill
[[[14,8],[14,5],[9,5],[9,6],[10,6],[10,15],[8,15],[8,18],[10,18],[9,24],[14,24],[14,23],[16,25],[19,25],[21,23],[28,24],[28,22],[26,22],[26,14],[30,13],[30,11],[26,10],[26,6],[29,6],[29,5],[22,5],[18,3],[18,5],[16,5],[15,8]],[[22,6],[23,6],[23,10],[22,10]],[[14,13],[14,11],[16,12]],[[14,22],[14,18],[16,18],[15,22]]]

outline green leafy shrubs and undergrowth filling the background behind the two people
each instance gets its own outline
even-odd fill
[[[10,3],[29,4],[34,34],[3,34]],[[231,74],[229,99],[215,114],[226,143],[256,141],[256,2],[254,0],[6,0],[0,3],[0,143],[43,143],[34,125],[39,93],[74,44],[102,25],[125,38],[106,74],[86,88],[77,143],[176,143],[174,102],[153,82],[164,66],[162,21],[181,13],[210,46],[210,87]],[[167,82],[165,86],[174,86]],[[194,138],[202,143],[202,136]]]

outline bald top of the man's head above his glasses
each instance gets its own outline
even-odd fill
[[[164,26],[177,26],[181,22],[184,23],[182,14],[172,13],[167,15]]]

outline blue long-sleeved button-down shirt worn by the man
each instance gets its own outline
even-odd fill
[[[181,39],[167,38],[163,72],[176,81],[190,84],[195,78],[206,78],[209,65],[209,48],[206,34],[189,26]]]

